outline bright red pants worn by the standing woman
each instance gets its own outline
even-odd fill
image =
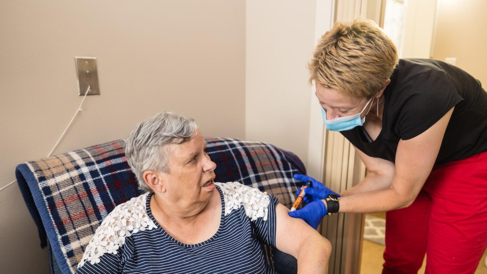
[[[487,152],[435,166],[411,206],[386,213],[383,274],[474,273],[487,247]]]

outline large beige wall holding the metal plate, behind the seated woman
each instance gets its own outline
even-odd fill
[[[0,0],[0,49],[0,186],[49,153],[78,107],[74,56],[98,58],[101,95],[55,154],[124,138],[161,110],[245,137],[244,1]],[[17,185],[0,193],[0,220],[0,272],[48,273]]]

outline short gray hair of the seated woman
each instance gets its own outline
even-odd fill
[[[169,172],[168,144],[182,144],[198,133],[196,121],[192,118],[163,111],[144,119],[132,130],[125,140],[125,156],[132,172],[137,176],[139,189],[152,192],[144,180],[144,172]]]

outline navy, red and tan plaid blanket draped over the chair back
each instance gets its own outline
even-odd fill
[[[262,142],[206,138],[217,164],[216,181],[239,181],[279,198],[288,208],[305,174],[300,159]],[[47,245],[63,274],[74,273],[96,228],[113,208],[142,194],[123,151],[124,140],[19,164],[16,176],[41,246]]]

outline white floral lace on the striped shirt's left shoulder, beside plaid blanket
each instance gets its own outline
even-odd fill
[[[83,258],[78,264],[82,267],[86,261],[99,263],[103,254],[117,254],[119,247],[125,244],[125,238],[139,231],[156,228],[146,212],[149,193],[133,197],[119,204],[103,220],[88,243]]]

